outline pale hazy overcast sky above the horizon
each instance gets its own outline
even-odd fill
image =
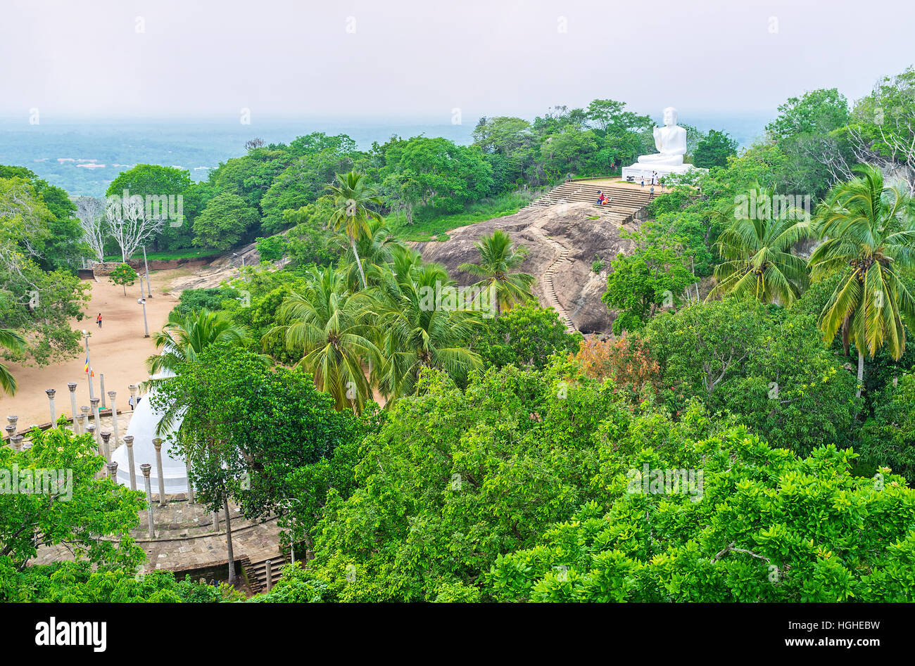
[[[0,0],[0,115],[774,112],[866,94],[913,27],[911,0]]]

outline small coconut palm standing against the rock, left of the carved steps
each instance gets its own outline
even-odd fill
[[[479,263],[461,263],[458,271],[482,278],[475,287],[495,290],[497,314],[531,296],[536,278],[527,273],[512,273],[524,261],[527,251],[515,248],[509,234],[497,229],[474,244],[479,250]]]

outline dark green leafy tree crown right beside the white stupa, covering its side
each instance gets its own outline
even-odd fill
[[[188,406],[174,444],[214,510],[229,496],[248,518],[283,514],[298,539],[328,489],[348,496],[355,451],[337,449],[358,444],[363,426],[302,371],[269,369],[254,352],[220,343],[183,363],[161,391],[156,404]]]

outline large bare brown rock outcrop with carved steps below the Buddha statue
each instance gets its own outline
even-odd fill
[[[476,282],[458,271],[461,263],[479,262],[474,246],[480,236],[501,229],[523,245],[527,257],[519,270],[536,276],[534,295],[544,307],[553,306],[560,318],[582,333],[608,333],[616,313],[600,297],[607,289],[610,260],[618,252],[630,252],[632,242],[620,231],[632,231],[635,223],[619,226],[587,202],[522,209],[513,215],[486,220],[449,231],[445,242],[410,243],[426,261],[444,264],[459,285]],[[605,263],[600,274],[591,263]]]

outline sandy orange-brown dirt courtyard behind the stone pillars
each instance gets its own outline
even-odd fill
[[[153,297],[146,299],[146,319],[150,334],[160,330],[168,319],[168,313],[178,302],[178,294],[167,295],[173,279],[187,275],[185,268],[152,271]],[[104,374],[105,392],[117,392],[118,409],[130,409],[127,400],[130,398],[130,384],[139,383],[148,377],[145,360],[155,353],[151,338],[144,338],[143,307],[137,305],[140,297],[139,283],[124,288],[113,285],[107,278],[100,277],[92,285],[92,300],[84,310],[82,321],[73,319],[70,325],[81,330],[85,328],[92,333],[89,338],[90,360],[95,372],[94,391],[99,397],[99,380]],[[95,316],[102,313],[102,328],[95,324]],[[83,371],[85,351],[74,359],[62,363],[51,363],[43,368],[23,367],[16,363],[7,365],[19,383],[15,397],[0,395],[0,417],[6,424],[7,414],[19,416],[19,430],[25,430],[31,424],[44,424],[50,420],[48,396],[45,389],[56,389],[54,396],[58,414],[70,415],[70,391],[67,382],[76,381],[77,409],[89,404],[89,381]],[[105,398],[108,404],[107,396]]]

